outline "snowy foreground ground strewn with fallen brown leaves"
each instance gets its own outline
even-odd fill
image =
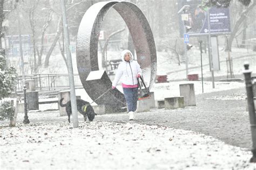
[[[135,123],[79,125],[2,126],[1,169],[256,168],[248,163],[251,152],[192,131]]]

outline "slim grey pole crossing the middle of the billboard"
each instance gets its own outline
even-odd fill
[[[207,9],[207,23],[208,23],[208,55],[210,59],[210,69],[212,73],[212,88],[215,88],[214,84],[214,69],[212,62],[212,42],[211,42],[211,24],[210,24],[210,9]]]

